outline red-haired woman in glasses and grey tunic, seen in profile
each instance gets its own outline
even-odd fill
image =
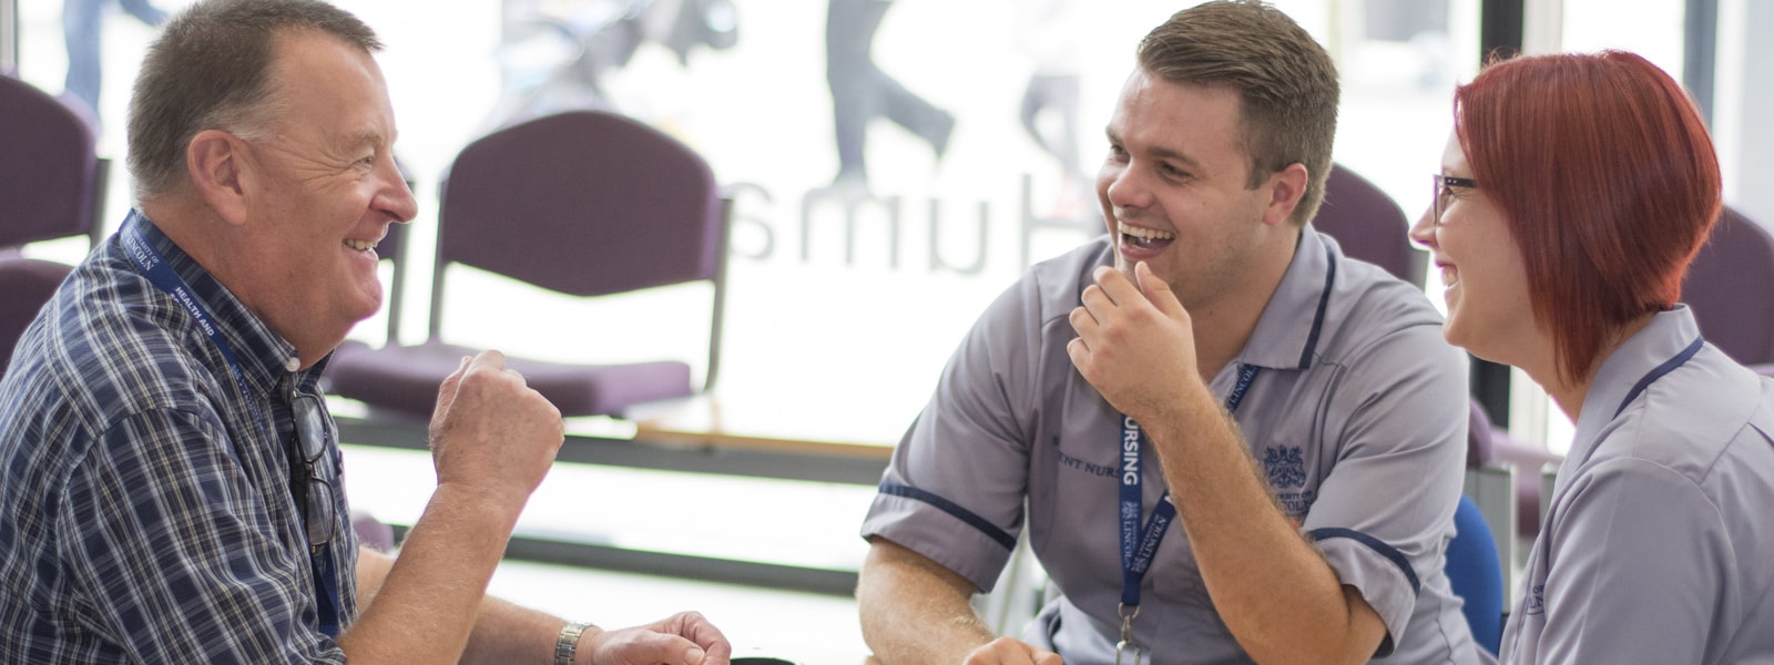
[[[1410,229],[1444,335],[1577,424],[1504,663],[1774,661],[1774,379],[1676,303],[1717,215],[1707,128],[1637,55],[1504,60],[1455,92]]]

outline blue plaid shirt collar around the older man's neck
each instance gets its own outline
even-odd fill
[[[248,310],[239,298],[234,298],[234,293],[209,275],[209,271],[204,270],[197,259],[184,254],[184,248],[161,232],[160,227],[147,218],[147,215],[131,209],[124,223],[140,225],[142,238],[149,243],[149,246],[153,246],[154,252],[160,252],[160,257],[167,261],[167,266],[170,266],[172,271],[184,280],[184,286],[192,289],[192,294],[202,301],[206,310],[209,310],[209,316],[222,330],[222,335],[239,356],[241,372],[247,374],[247,379],[252,381],[255,388],[271,392],[284,374],[293,372],[291,367],[294,367],[293,360],[296,358],[296,348],[252,314],[252,310]],[[319,362],[294,379],[298,385],[312,388],[325,365],[325,362]]]

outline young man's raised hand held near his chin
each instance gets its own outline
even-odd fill
[[[1187,390],[1206,390],[1196,369],[1196,333],[1189,310],[1144,261],[1139,286],[1107,266],[1071,310],[1079,337],[1066,344],[1071,364],[1103,399],[1146,422],[1178,404]]]

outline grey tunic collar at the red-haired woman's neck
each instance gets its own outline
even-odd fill
[[[1602,360],[1602,367],[1595,371],[1595,379],[1590,381],[1590,394],[1582,397],[1570,456],[1577,459],[1588,456],[1597,434],[1614,420],[1620,401],[1627,399],[1632,387],[1657,365],[1680,355],[1696,339],[1699,339],[1699,325],[1694,323],[1694,312],[1678,303],[1671,310],[1652,316],[1652,323],[1620,344],[1614,353],[1609,353],[1607,360]]]

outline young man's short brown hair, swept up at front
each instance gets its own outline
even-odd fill
[[[1336,138],[1336,64],[1288,14],[1254,0],[1206,2],[1139,41],[1139,66],[1171,83],[1238,92],[1249,186],[1291,163],[1311,174],[1293,222],[1318,211]]]

